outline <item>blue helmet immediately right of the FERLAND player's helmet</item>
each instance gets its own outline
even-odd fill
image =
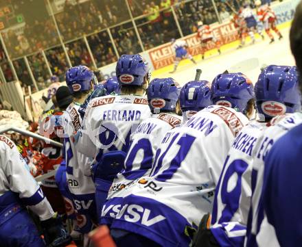
[[[148,103],[152,112],[174,112],[178,101],[180,87],[172,78],[153,79],[147,90]]]

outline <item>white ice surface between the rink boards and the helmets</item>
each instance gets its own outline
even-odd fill
[[[275,42],[269,44],[269,38],[266,34],[265,40],[257,36],[255,44],[251,44],[251,40],[246,41],[246,47],[237,49],[238,42],[229,44],[221,48],[222,54],[217,55],[217,51],[209,51],[205,54],[205,60],[201,59],[201,55],[197,55],[197,64],[192,64],[189,60],[181,61],[176,73],[170,74],[173,66],[167,66],[161,70],[157,70],[152,74],[154,77],[173,77],[183,85],[187,81],[194,80],[196,68],[202,69],[200,79],[212,81],[218,73],[224,70],[229,72],[242,72],[246,74],[255,83],[257,81],[260,68],[264,65],[294,65],[294,57],[290,51],[289,29],[281,29],[283,40],[279,41],[275,36]]]

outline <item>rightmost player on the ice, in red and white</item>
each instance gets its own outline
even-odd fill
[[[275,31],[277,36],[279,36],[279,40],[281,40],[283,36],[276,26],[277,16],[275,12],[272,10],[272,8],[270,8],[270,6],[268,6],[267,3],[262,5],[262,2],[260,0],[255,1],[255,5],[257,6],[257,16],[259,18],[259,21],[261,21],[264,25],[266,34],[268,34],[268,37],[270,38],[270,43],[275,41],[274,36],[272,36],[272,34],[270,33],[270,29],[272,29],[272,31]]]

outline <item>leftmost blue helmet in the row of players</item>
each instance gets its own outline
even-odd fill
[[[91,81],[93,86],[97,84],[97,77],[93,71],[84,65],[69,68],[65,80],[71,93],[90,90]]]

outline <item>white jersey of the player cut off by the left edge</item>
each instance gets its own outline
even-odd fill
[[[9,194],[10,192],[13,193]],[[12,140],[0,135],[0,212],[9,206],[8,201],[14,198],[14,194],[40,220],[48,220],[54,215],[51,205]]]

